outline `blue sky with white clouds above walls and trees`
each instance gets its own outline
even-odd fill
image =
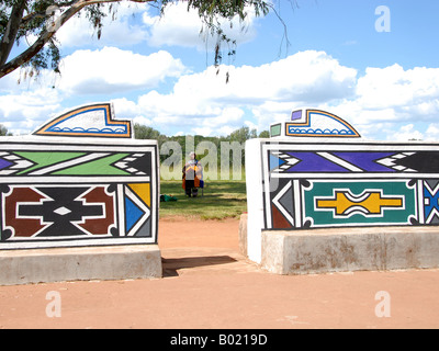
[[[75,18],[57,35],[60,77],[43,71],[24,80],[15,71],[0,80],[0,123],[25,134],[70,107],[111,101],[116,117],[166,135],[214,136],[240,126],[261,132],[292,110],[316,107],[365,138],[439,139],[439,1],[295,3],[274,2],[289,47],[273,13],[250,13],[246,31],[236,22],[229,32],[237,54],[223,60],[218,75],[215,41],[200,36],[196,14],[184,5],[159,20],[148,5],[123,3],[100,41],[85,16]],[[376,14],[379,7],[389,15]],[[376,31],[382,20],[390,21],[389,32]]]

